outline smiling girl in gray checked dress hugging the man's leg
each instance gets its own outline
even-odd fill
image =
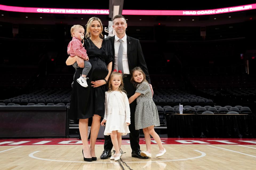
[[[146,80],[146,75],[140,67],[135,67],[131,72],[131,82],[137,87],[135,94],[129,98],[129,104],[137,99],[135,110],[135,129],[143,129],[146,141],[146,151],[141,152],[141,156],[151,158],[151,138],[155,139],[159,147],[159,153],[156,158],[163,156],[166,153],[162,145],[159,135],[155,132],[154,126],[160,126],[157,107],[152,99],[152,92],[149,83]]]

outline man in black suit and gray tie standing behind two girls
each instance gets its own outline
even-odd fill
[[[112,43],[113,59],[114,64],[112,70],[121,70],[123,73],[123,83],[127,97],[134,95],[136,88],[130,82],[130,72],[134,67],[141,67],[146,74],[146,79],[149,82],[152,94],[153,89],[149,77],[149,71],[142,53],[141,44],[138,39],[134,39],[126,35],[125,30],[127,28],[126,19],[122,15],[116,15],[113,18],[113,29],[116,35],[109,38]],[[130,145],[131,145],[131,156],[141,159],[148,159],[148,157],[141,156],[141,150],[139,146],[139,130],[135,130],[134,125],[134,113],[136,108],[136,100],[130,104],[131,111],[131,124],[129,125],[130,130]],[[111,156],[111,149],[113,144],[111,142],[110,135],[104,136],[104,151],[102,152],[101,159],[107,159]]]

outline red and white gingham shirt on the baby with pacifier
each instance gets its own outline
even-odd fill
[[[77,37],[73,37],[67,46],[67,53],[70,57],[79,56],[83,59],[87,57],[86,49],[83,47],[81,40]]]

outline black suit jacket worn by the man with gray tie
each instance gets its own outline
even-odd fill
[[[111,41],[111,44],[112,44],[112,52],[113,52],[112,70],[113,70],[114,62],[115,62],[115,45],[114,45],[115,36],[110,37],[109,40]],[[146,74],[146,80],[149,82],[149,84],[151,84],[149,71],[147,69],[144,55],[142,53],[141,44],[139,43],[138,39],[135,39],[129,36],[127,36],[127,58],[128,58],[128,65],[129,65],[130,72],[132,69],[134,69],[134,67],[141,67],[141,69]]]

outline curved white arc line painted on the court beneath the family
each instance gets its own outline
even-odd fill
[[[185,158],[185,159],[174,159],[174,160],[161,160],[161,161],[150,161],[150,162],[169,162],[169,161],[179,161],[179,160],[189,160],[189,159],[197,159],[197,158],[202,158],[206,155],[206,153],[204,152],[201,152],[201,151],[198,151],[198,150],[194,150],[196,152],[199,152],[201,153],[200,156],[197,156],[197,157],[193,157],[193,158]],[[43,159],[43,158],[38,158],[38,157],[35,157],[34,154],[37,153],[37,152],[40,152],[40,151],[35,151],[31,154],[29,154],[29,157],[31,158],[34,158],[34,159],[41,159],[41,160],[49,160],[49,161],[57,161],[57,162],[81,162],[81,161],[66,161],[66,160],[53,160],[53,159]],[[113,161],[113,162],[81,162],[81,163],[116,163],[116,161]],[[125,163],[147,163],[147,161],[144,161],[144,162],[125,162]]]

